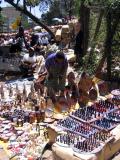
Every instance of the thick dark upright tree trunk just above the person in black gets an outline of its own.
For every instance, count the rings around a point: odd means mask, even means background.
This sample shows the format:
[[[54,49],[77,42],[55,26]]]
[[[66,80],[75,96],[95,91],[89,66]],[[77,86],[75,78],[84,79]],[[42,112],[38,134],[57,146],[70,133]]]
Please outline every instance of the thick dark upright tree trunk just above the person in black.
[[[87,52],[88,41],[89,41],[89,20],[90,20],[90,10],[84,5],[84,1],[80,6],[80,23],[82,25],[82,30],[84,34],[83,39],[83,53]]]

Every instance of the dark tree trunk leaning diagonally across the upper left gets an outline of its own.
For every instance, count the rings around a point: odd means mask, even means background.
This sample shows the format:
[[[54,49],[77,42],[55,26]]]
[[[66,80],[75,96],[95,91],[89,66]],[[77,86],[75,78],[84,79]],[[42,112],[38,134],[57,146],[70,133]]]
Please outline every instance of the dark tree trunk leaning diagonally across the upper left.
[[[51,34],[51,36],[55,39],[55,35],[54,33],[46,26],[44,25],[39,18],[37,18],[36,16],[34,16],[31,12],[29,12],[27,9],[25,9],[24,7],[18,6],[16,3],[14,3],[13,1],[10,0],[5,0],[7,3],[9,3],[10,5],[12,5],[13,7],[15,7],[18,11],[24,13],[25,15],[27,15],[29,18],[31,18],[34,22],[36,22],[38,25],[40,25],[42,28],[44,28],[47,32],[49,32]]]

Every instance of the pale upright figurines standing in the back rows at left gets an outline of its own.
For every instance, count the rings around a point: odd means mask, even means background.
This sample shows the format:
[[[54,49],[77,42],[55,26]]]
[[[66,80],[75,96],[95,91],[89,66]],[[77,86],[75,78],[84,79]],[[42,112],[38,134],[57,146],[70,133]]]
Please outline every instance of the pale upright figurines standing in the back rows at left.
[[[40,106],[40,108],[42,109],[46,108],[46,106],[48,105],[53,106],[51,98],[48,97],[47,95],[44,95],[43,97],[40,93],[40,90],[36,92],[33,83],[29,85],[29,88],[26,87],[24,83],[22,86],[22,90],[20,88],[21,87],[18,87],[18,84],[15,84],[14,87],[11,84],[8,87],[4,87],[3,85],[1,85],[0,86],[1,106],[4,106],[4,108],[8,107],[8,109],[9,108],[11,109],[12,106],[18,108],[18,106],[21,107],[22,105],[24,105],[24,108],[33,107],[33,110],[34,106],[37,105]],[[8,98],[5,97],[5,95],[7,94],[6,90],[9,92]]]

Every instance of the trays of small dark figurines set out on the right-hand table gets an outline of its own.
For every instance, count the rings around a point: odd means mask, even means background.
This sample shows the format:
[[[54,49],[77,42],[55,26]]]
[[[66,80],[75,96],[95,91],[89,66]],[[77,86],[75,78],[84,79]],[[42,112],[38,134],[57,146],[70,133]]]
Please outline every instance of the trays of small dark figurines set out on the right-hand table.
[[[59,120],[56,127],[64,132],[56,138],[56,144],[72,148],[74,153],[90,154],[98,153],[107,143],[114,141],[110,131],[120,122],[120,109],[113,99],[99,100]]]

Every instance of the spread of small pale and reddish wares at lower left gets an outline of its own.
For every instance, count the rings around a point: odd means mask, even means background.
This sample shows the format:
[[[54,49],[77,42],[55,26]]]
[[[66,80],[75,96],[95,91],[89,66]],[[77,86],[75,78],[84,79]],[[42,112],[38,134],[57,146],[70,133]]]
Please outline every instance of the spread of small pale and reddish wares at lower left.
[[[15,127],[6,120],[0,121],[0,140],[7,143],[9,156],[23,159],[38,159],[48,141],[47,131],[42,124],[24,123],[23,127]]]

